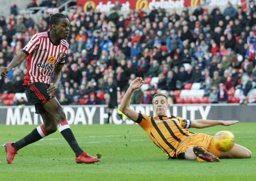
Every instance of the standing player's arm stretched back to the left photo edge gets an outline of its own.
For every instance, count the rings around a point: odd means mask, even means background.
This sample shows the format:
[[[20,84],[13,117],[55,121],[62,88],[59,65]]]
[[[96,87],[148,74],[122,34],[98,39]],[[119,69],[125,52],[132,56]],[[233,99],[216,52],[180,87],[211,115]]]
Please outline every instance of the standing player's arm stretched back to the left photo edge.
[[[0,67],[0,76],[6,77],[8,72],[10,72],[12,68],[17,67],[19,64],[21,64],[25,60],[25,58],[27,58],[26,53],[19,53],[11,60],[11,63],[7,67]]]

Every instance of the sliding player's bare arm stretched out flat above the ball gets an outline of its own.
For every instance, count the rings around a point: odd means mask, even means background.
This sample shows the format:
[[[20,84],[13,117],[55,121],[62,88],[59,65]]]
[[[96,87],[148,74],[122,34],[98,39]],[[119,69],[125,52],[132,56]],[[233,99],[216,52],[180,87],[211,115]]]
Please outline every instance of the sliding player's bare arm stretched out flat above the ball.
[[[227,121],[222,121],[222,120],[193,120],[191,121],[191,128],[207,128],[211,126],[216,126],[216,125],[224,125],[224,126],[229,126],[233,125],[236,123],[239,123],[238,120],[227,120]]]

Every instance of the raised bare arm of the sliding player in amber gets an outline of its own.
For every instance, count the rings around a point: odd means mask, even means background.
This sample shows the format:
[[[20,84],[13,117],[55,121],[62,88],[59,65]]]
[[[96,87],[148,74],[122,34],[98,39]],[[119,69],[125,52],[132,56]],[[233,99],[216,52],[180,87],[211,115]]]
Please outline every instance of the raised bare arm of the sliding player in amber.
[[[127,89],[119,107],[119,110],[133,121],[138,119],[139,114],[130,108],[131,97],[133,92],[141,88],[143,84],[144,81],[142,78],[135,78]]]

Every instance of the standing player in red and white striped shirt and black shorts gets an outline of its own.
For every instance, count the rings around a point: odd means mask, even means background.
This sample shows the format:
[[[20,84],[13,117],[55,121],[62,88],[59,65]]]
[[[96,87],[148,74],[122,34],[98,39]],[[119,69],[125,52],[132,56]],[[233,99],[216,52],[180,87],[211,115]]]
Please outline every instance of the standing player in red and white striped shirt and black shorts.
[[[18,150],[54,133],[57,129],[74,151],[77,163],[98,162],[99,159],[88,155],[79,147],[68,125],[66,115],[54,96],[68,51],[69,45],[65,39],[69,36],[70,22],[64,14],[58,13],[51,16],[50,26],[50,31],[34,34],[8,67],[0,68],[0,75],[6,77],[12,68],[17,67],[27,58],[28,74],[25,76],[25,93],[44,122],[17,142],[6,143],[7,162],[12,164]],[[54,74],[53,81],[52,74]]]

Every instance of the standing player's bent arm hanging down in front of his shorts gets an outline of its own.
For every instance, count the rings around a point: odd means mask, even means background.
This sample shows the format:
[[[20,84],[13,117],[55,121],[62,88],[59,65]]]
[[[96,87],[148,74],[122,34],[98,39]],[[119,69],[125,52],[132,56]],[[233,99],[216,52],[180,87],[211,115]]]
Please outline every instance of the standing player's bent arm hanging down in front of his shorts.
[[[50,97],[53,97],[54,93],[58,89],[60,78],[61,78],[61,70],[64,64],[57,64],[54,70],[53,83],[47,89],[47,93]]]

